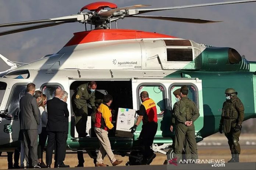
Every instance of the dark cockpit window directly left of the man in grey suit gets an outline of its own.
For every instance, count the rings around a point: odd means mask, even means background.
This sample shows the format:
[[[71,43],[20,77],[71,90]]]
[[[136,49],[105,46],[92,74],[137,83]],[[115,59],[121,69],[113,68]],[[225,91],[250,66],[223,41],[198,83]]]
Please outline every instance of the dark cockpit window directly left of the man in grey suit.
[[[26,85],[17,85],[13,90],[13,94],[11,95],[11,100],[8,106],[8,117],[18,118],[19,112],[19,99],[23,97],[26,93]]]

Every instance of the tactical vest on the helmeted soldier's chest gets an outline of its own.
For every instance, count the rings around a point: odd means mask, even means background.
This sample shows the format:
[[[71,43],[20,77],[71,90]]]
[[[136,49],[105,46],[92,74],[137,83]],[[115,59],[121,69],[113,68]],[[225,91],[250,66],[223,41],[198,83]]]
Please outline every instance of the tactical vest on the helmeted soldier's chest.
[[[238,112],[235,108],[236,99],[233,101],[226,101],[223,110],[222,115],[224,119],[237,119],[238,118]]]

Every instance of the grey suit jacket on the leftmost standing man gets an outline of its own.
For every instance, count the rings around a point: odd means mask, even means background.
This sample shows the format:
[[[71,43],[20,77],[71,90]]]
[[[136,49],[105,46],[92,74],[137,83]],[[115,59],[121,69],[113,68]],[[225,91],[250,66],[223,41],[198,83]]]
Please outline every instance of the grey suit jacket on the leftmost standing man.
[[[20,108],[20,129],[38,129],[39,125],[39,109],[36,103],[36,98],[30,93],[19,100]]]

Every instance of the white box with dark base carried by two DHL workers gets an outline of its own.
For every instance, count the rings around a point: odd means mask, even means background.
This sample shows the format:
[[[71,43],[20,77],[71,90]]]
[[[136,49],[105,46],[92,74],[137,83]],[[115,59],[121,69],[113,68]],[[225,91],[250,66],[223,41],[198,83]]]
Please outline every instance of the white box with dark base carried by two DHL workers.
[[[129,108],[118,108],[115,136],[132,138],[130,128],[135,123],[136,110]]]

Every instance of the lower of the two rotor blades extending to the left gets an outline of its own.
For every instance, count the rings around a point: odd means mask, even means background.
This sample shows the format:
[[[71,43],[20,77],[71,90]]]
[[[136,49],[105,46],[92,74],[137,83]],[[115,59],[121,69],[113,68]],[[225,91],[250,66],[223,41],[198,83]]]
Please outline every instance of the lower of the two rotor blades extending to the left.
[[[60,25],[63,23],[70,23],[70,22],[74,22],[74,21],[57,21],[57,22],[43,23],[43,24],[33,25],[33,26],[28,26],[28,27],[22,27],[22,28],[18,28],[18,29],[0,32],[0,36],[34,30],[34,29],[39,29],[39,28],[51,27],[51,26],[56,26],[56,25]]]

